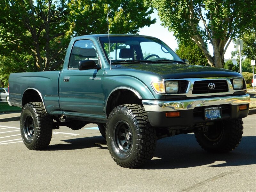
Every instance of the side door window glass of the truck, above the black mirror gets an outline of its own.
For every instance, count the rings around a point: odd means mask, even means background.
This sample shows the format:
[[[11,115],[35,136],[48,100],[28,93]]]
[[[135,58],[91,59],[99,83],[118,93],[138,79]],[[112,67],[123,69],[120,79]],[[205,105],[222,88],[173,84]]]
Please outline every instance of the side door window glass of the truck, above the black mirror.
[[[68,68],[78,68],[81,60],[94,60],[100,66],[100,58],[91,40],[78,40],[75,42],[69,58]]]

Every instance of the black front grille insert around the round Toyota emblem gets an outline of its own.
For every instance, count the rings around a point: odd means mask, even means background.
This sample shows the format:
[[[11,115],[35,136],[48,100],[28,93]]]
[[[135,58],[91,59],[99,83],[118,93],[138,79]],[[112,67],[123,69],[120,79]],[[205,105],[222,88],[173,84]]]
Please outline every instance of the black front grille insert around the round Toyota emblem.
[[[210,89],[208,85],[213,83],[214,89]],[[195,81],[192,94],[205,94],[205,93],[221,93],[228,92],[228,83],[226,80],[206,80]]]

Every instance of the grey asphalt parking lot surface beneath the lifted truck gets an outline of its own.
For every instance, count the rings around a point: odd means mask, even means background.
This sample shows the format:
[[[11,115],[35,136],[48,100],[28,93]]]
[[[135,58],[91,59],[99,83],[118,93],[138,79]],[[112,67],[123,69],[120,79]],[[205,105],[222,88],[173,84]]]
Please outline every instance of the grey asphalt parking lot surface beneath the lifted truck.
[[[256,115],[244,118],[241,144],[211,154],[194,134],[157,141],[140,169],[115,164],[96,124],[54,130],[50,146],[28,150],[19,121],[0,123],[0,191],[256,191]]]

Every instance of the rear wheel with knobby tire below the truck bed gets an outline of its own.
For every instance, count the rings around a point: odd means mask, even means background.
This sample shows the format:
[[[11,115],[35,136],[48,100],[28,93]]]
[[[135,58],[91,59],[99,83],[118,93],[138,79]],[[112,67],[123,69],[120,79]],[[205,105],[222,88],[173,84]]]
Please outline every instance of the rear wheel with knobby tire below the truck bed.
[[[53,121],[41,102],[27,103],[20,114],[20,133],[30,150],[46,148],[52,139]]]

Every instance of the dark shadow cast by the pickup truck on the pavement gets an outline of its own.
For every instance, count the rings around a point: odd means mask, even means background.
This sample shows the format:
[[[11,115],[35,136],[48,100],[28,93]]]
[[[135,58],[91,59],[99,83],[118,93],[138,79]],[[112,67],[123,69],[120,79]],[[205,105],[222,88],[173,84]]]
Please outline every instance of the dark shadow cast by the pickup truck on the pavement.
[[[61,140],[45,150],[108,149],[102,136]],[[229,153],[209,153],[196,142],[194,134],[176,135],[157,140],[153,159],[139,169],[180,169],[196,166],[226,167],[256,164],[256,137],[244,136],[239,146]],[[109,158],[111,158],[109,156]]]

